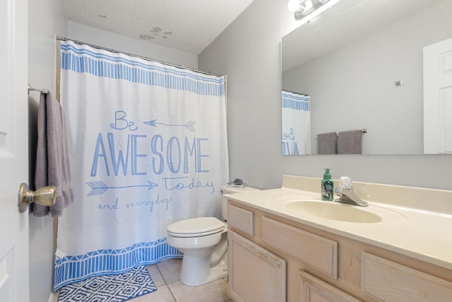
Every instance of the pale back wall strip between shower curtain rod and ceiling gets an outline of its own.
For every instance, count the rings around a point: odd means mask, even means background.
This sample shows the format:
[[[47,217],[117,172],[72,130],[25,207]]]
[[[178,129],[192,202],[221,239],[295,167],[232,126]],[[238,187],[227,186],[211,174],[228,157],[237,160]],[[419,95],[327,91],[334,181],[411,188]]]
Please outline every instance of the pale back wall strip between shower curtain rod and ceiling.
[[[182,52],[177,49],[142,42],[112,32],[106,32],[105,30],[90,28],[79,23],[68,23],[67,38],[99,45],[101,47],[112,48],[125,52],[126,54],[130,53],[175,65],[182,65],[195,69],[198,68],[198,56],[195,54],[189,54],[188,52]]]

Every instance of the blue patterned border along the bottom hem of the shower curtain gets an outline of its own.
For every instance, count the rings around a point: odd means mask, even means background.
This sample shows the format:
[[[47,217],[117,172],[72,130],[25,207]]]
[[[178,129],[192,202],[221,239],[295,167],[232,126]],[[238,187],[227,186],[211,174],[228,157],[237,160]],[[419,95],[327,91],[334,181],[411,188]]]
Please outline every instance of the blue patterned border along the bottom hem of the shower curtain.
[[[151,265],[165,259],[181,258],[182,253],[169,246],[166,238],[135,243],[117,250],[101,249],[83,255],[55,260],[55,291],[61,286],[102,274],[121,274],[136,265]]]

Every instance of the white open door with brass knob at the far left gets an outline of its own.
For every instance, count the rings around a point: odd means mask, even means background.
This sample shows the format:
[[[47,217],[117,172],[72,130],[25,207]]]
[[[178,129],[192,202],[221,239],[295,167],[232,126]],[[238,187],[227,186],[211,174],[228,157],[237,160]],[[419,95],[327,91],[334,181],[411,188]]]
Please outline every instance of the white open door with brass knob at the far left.
[[[28,212],[18,211],[28,181],[28,2],[0,1],[0,301],[29,301]]]

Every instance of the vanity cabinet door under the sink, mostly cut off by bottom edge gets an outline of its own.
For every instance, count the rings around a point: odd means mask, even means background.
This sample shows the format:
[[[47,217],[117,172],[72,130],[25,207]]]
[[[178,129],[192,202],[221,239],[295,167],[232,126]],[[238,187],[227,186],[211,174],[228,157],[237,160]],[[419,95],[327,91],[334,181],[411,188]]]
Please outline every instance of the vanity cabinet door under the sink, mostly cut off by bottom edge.
[[[354,296],[314,277],[304,270],[299,271],[302,279],[303,302],[360,302]]]

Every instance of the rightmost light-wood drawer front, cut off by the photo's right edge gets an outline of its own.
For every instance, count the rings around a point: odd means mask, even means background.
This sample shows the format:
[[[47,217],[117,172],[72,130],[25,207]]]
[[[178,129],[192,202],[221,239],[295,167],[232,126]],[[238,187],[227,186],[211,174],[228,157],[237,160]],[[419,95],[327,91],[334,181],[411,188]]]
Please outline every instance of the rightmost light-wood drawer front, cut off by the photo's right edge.
[[[452,282],[366,252],[361,289],[378,301],[452,301]]]

